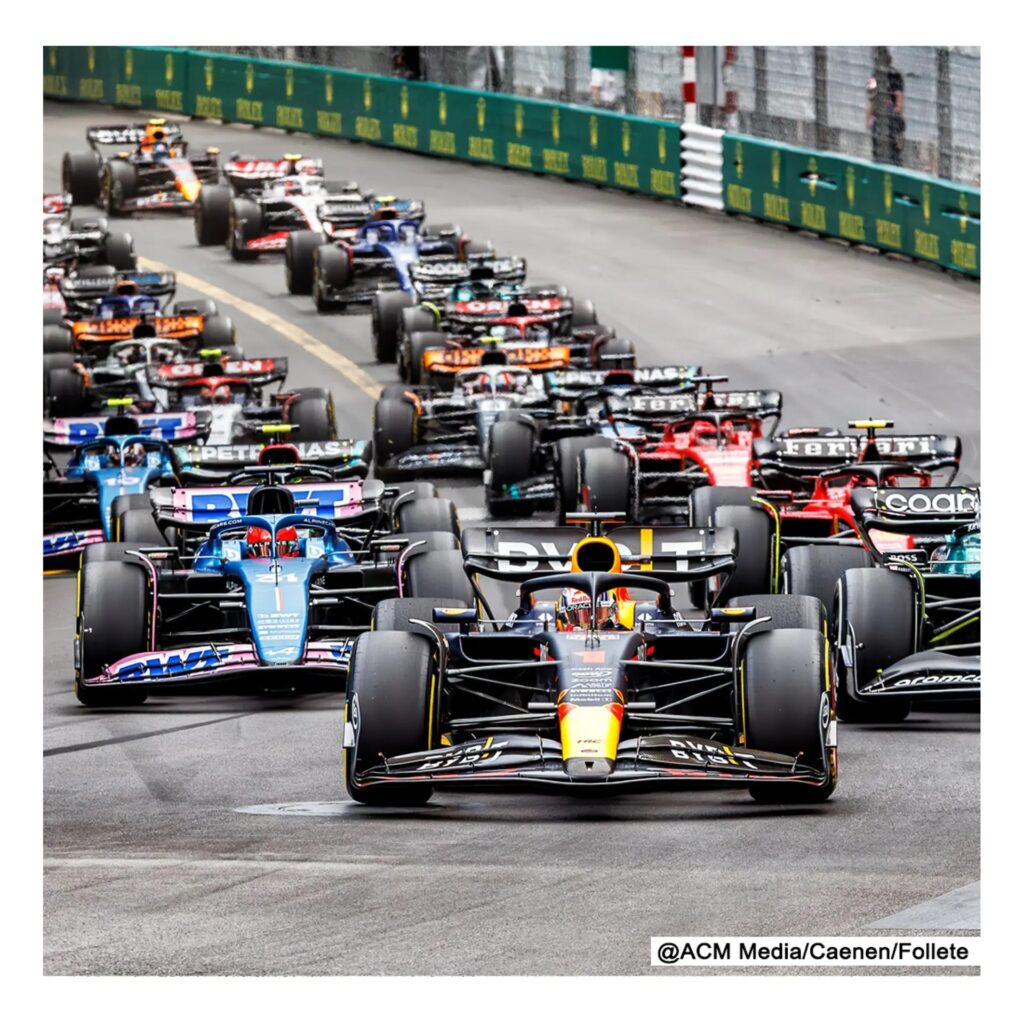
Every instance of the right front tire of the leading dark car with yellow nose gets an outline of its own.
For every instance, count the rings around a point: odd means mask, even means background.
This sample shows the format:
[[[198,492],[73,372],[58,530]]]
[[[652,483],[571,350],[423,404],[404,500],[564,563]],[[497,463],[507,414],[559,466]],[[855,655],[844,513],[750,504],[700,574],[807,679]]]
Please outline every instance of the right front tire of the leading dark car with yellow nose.
[[[751,637],[743,648],[745,744],[755,751],[801,756],[829,771],[823,743],[830,707],[825,685],[825,637],[820,630],[774,629]],[[836,788],[758,782],[751,796],[761,803],[818,804]]]

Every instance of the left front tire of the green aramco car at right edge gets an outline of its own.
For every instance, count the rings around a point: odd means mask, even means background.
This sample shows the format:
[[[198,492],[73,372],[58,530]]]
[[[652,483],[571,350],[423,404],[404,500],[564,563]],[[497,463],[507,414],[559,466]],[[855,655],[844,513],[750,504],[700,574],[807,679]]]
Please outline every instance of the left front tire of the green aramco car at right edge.
[[[851,723],[902,722],[910,701],[884,697],[861,700],[854,687],[860,680],[913,654],[918,648],[918,608],[913,583],[902,572],[874,568],[847,569],[837,587],[836,634],[845,646],[853,631],[856,665],[842,664],[837,696],[839,717]]]

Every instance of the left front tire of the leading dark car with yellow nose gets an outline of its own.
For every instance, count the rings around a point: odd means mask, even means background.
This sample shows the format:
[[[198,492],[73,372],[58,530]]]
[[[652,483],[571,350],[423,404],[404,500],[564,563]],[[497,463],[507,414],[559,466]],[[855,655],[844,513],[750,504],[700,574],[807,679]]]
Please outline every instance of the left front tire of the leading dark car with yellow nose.
[[[386,630],[364,633],[352,649],[347,716],[355,746],[345,750],[345,788],[359,804],[416,807],[433,787],[422,782],[356,785],[355,777],[381,759],[440,743],[436,658],[429,640]],[[431,721],[433,713],[435,720]]]

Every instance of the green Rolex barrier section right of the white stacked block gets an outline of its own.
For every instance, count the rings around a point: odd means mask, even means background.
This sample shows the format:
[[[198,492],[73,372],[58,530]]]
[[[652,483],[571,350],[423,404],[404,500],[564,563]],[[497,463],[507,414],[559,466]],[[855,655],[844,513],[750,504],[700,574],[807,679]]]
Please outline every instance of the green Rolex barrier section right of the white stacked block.
[[[726,133],[725,209],[981,276],[981,191],[897,167]]]

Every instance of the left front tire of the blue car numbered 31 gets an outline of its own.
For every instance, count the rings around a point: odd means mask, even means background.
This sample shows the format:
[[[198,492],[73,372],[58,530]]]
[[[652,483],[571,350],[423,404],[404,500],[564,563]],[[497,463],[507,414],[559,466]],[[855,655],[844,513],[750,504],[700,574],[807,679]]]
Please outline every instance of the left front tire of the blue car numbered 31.
[[[139,705],[144,686],[124,684],[90,688],[82,680],[150,646],[150,594],[144,568],[124,560],[83,562],[78,635],[81,656],[75,696],[88,707]]]

